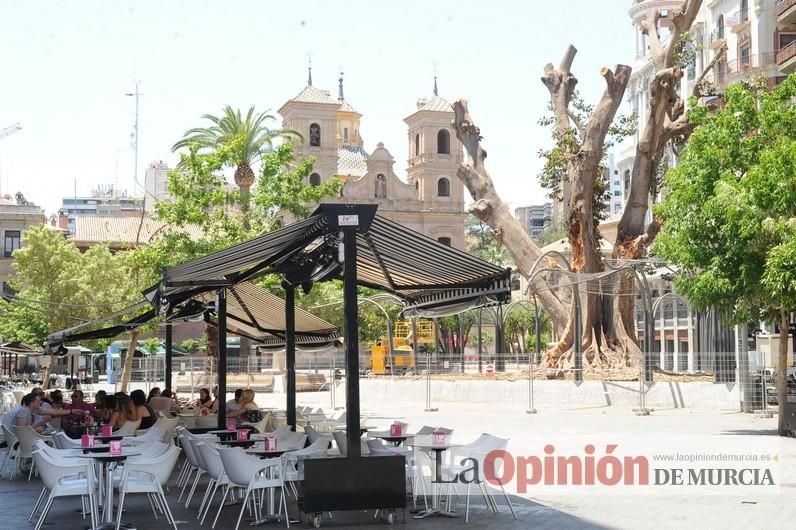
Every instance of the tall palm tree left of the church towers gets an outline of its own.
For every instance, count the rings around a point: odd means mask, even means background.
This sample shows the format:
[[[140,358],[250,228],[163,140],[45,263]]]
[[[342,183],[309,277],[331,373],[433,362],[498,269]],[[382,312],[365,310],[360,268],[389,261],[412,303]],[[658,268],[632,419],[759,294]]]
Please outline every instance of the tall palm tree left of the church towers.
[[[172,152],[197,146],[199,149],[218,149],[229,146],[233,150],[235,164],[235,184],[240,188],[241,209],[244,214],[244,225],[248,229],[249,189],[254,184],[254,170],[252,165],[258,162],[263,153],[269,151],[272,142],[277,138],[299,138],[300,133],[292,129],[269,129],[265,123],[276,119],[268,112],[255,112],[254,105],[249,108],[246,116],[241,115],[240,109],[233,109],[227,105],[221,116],[205,114],[202,119],[213,123],[210,127],[196,127],[189,129],[182,140],[174,144]]]

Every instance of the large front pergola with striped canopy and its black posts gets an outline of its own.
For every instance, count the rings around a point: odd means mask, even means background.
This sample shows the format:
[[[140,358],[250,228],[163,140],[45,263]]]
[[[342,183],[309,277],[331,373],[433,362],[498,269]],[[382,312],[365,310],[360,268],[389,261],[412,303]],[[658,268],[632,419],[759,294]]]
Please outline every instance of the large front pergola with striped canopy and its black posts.
[[[360,456],[357,286],[380,289],[412,311],[462,304],[495,304],[510,298],[510,269],[448,247],[376,215],[376,205],[322,204],[306,220],[205,257],[171,267],[146,294],[160,312],[179,309],[197,296],[216,297],[219,373],[226,372],[228,309],[240,282],[265,274],[282,276],[285,290],[287,422],[296,418],[295,290],[343,280],[346,409],[349,457]],[[219,394],[226,381],[218,382]],[[225,411],[219,411],[219,425]]]

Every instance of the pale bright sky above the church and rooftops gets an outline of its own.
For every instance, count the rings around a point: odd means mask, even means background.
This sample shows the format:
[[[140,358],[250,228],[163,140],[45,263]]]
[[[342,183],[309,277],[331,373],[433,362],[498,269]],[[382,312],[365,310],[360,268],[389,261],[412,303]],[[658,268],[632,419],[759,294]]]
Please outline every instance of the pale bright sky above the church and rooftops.
[[[176,161],[171,145],[226,104],[274,112],[306,83],[346,99],[363,116],[372,151],[384,142],[405,176],[403,118],[431,95],[465,97],[489,151],[488,168],[512,206],[544,200],[537,125],[547,91],[544,65],[569,43],[588,101],[598,72],[633,58],[623,0],[565,2],[271,2],[73,0],[0,2],[2,193],[22,191],[52,213],[61,198],[99,184],[133,189],[132,92],[140,80],[139,180],[153,160]],[[274,123],[278,125],[278,123]]]

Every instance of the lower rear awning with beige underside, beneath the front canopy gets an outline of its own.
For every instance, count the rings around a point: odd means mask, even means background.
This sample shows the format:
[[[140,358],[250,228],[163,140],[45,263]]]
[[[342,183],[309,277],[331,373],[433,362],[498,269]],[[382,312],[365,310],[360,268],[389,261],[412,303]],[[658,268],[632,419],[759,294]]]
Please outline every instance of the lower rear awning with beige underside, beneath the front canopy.
[[[211,302],[213,302],[213,297],[207,293],[198,300],[189,300],[175,308],[169,321],[204,318],[206,314],[212,312]],[[129,314],[140,307],[140,304],[136,304],[114,314],[117,316],[125,312]],[[57,331],[47,337],[47,351],[55,352],[65,342],[116,337],[146,324],[157,316],[157,311],[150,309],[120,324],[99,329],[90,328],[100,322],[108,322],[107,318]],[[284,343],[285,301],[254,284],[244,282],[230,289],[227,317],[227,331],[230,333],[258,342],[268,341],[269,344],[274,344],[281,341]],[[308,311],[296,309],[296,342],[298,344],[325,344],[338,338],[339,331],[332,324]]]

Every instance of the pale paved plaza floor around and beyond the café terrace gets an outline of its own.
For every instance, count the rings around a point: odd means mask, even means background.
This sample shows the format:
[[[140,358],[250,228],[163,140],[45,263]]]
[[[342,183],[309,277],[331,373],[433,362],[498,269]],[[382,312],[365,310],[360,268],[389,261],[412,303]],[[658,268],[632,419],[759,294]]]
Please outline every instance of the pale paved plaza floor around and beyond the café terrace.
[[[260,395],[261,405],[280,405],[282,396]],[[329,406],[328,393],[300,394],[299,404]],[[643,433],[665,439],[672,436],[713,436],[717,444],[724,439],[759,440],[774,436],[776,418],[759,419],[749,414],[731,412],[691,411],[687,409],[658,410],[647,417],[639,417],[629,409],[619,407],[581,410],[540,410],[538,414],[524,413],[523,404],[489,406],[484,404],[435,404],[436,412],[425,412],[422,402],[416,403],[363,403],[362,412],[368,415],[371,425],[389,425],[400,419],[412,427],[420,425],[446,426],[455,430],[455,439],[468,442],[480,433],[488,432],[511,438],[511,447],[522,447],[525,440],[539,434],[569,434],[594,436],[632,436]],[[515,449],[516,450],[516,449]],[[783,482],[776,495],[562,495],[539,494],[515,496],[517,511],[514,520],[507,507],[501,503],[497,515],[488,512],[480,500],[473,497],[469,524],[464,518],[415,520],[407,514],[404,528],[554,528],[554,529],[637,529],[637,528],[793,528],[796,525],[796,440],[781,441],[780,464]],[[23,478],[0,480],[0,528],[32,528],[27,522],[30,506],[40,485],[35,480]],[[200,485],[203,492],[203,485]],[[172,488],[170,504],[180,529],[209,528],[198,524],[194,501],[186,511],[176,502]],[[131,498],[126,504],[125,520],[137,528],[166,528],[163,520],[154,521],[144,498]],[[239,507],[225,509],[216,528],[234,528]],[[291,516],[298,517],[295,503]],[[463,511],[463,505],[459,506]],[[79,514],[71,501],[57,501],[44,528],[64,530],[82,529]],[[302,523],[291,527],[304,527]],[[334,518],[324,519],[323,528],[384,528],[386,525],[373,519],[373,512],[340,512]],[[248,527],[241,525],[241,528]],[[266,527],[284,528],[284,523],[271,523]]]

